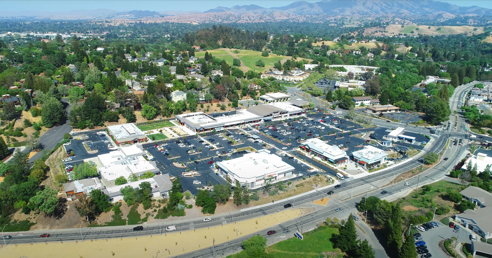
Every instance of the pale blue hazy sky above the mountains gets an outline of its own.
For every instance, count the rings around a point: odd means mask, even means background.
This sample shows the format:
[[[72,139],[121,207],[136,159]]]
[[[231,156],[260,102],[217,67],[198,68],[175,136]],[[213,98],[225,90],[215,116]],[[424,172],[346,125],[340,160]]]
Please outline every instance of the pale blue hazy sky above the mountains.
[[[22,11],[60,12],[70,10],[112,9],[116,11],[150,10],[150,11],[206,11],[217,6],[256,4],[262,7],[285,6],[296,0],[0,0],[3,15],[9,12],[20,15]],[[316,2],[318,0],[306,0]],[[477,5],[492,9],[488,0],[442,0],[460,6]]]

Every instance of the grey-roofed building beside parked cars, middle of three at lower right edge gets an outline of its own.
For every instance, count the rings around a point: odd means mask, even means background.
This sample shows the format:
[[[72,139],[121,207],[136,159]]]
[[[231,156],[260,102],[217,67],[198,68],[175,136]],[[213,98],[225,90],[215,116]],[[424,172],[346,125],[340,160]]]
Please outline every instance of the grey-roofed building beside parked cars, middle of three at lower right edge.
[[[492,238],[492,224],[490,218],[492,207],[481,209],[467,209],[463,213],[456,214],[455,220],[467,229],[471,229],[485,239]],[[475,242],[475,241],[472,241]]]

